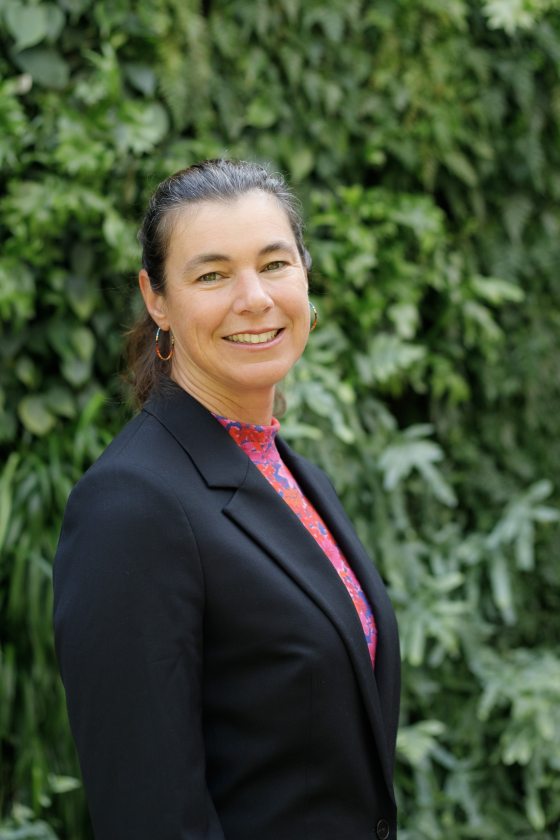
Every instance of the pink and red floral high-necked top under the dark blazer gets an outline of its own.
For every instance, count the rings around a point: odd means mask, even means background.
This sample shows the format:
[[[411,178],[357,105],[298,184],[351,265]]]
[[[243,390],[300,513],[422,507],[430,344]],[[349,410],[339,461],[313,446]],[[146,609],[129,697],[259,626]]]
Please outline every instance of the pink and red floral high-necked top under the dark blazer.
[[[275,441],[280,423],[275,417],[272,418],[270,426],[241,423],[216,414],[214,417],[249,456],[279,496],[291,507],[333,564],[352,598],[366,637],[371,663],[375,665],[377,628],[370,603],[334,537],[313,505],[303,495],[295,478],[280,458]]]

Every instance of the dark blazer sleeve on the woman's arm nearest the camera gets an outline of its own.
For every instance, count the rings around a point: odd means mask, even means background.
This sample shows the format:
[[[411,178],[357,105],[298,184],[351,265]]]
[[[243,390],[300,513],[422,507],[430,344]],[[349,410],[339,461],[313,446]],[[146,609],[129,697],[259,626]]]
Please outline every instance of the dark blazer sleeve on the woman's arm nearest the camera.
[[[205,783],[202,569],[161,477],[86,474],[67,505],[54,593],[96,840],[223,840]]]

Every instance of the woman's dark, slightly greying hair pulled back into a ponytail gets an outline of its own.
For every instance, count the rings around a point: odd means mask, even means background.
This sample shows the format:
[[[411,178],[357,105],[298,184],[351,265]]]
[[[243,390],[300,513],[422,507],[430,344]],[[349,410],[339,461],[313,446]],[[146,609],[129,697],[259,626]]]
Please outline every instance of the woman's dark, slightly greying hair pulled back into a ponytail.
[[[244,160],[205,160],[170,175],[150,198],[138,240],[142,246],[142,267],[155,292],[165,291],[165,262],[175,211],[200,201],[231,201],[252,190],[277,198],[290,223],[303,265],[310,270],[311,257],[303,241],[299,202],[283,176]],[[134,400],[140,406],[152,391],[170,381],[171,363],[159,360],[154,352],[156,329],[150,314],[144,312],[127,334],[129,379]],[[166,355],[166,346],[162,350]]]

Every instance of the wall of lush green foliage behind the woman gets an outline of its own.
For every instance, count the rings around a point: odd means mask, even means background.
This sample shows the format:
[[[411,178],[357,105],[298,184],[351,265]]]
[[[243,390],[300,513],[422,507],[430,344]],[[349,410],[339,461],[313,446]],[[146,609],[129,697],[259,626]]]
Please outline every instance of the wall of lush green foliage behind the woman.
[[[305,204],[283,425],[398,611],[400,836],[560,836],[559,6],[2,0],[2,840],[91,837],[51,562],[129,413],[142,208],[223,154]]]

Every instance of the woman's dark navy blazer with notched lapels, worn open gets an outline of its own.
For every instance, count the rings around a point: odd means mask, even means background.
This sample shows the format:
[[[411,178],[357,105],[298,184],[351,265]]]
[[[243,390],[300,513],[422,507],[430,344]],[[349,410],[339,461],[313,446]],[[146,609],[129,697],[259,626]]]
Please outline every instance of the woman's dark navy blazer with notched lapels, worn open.
[[[375,672],[313,537],[173,387],[78,482],[57,657],[97,840],[396,837],[397,626],[325,474],[280,454],[373,607]]]

